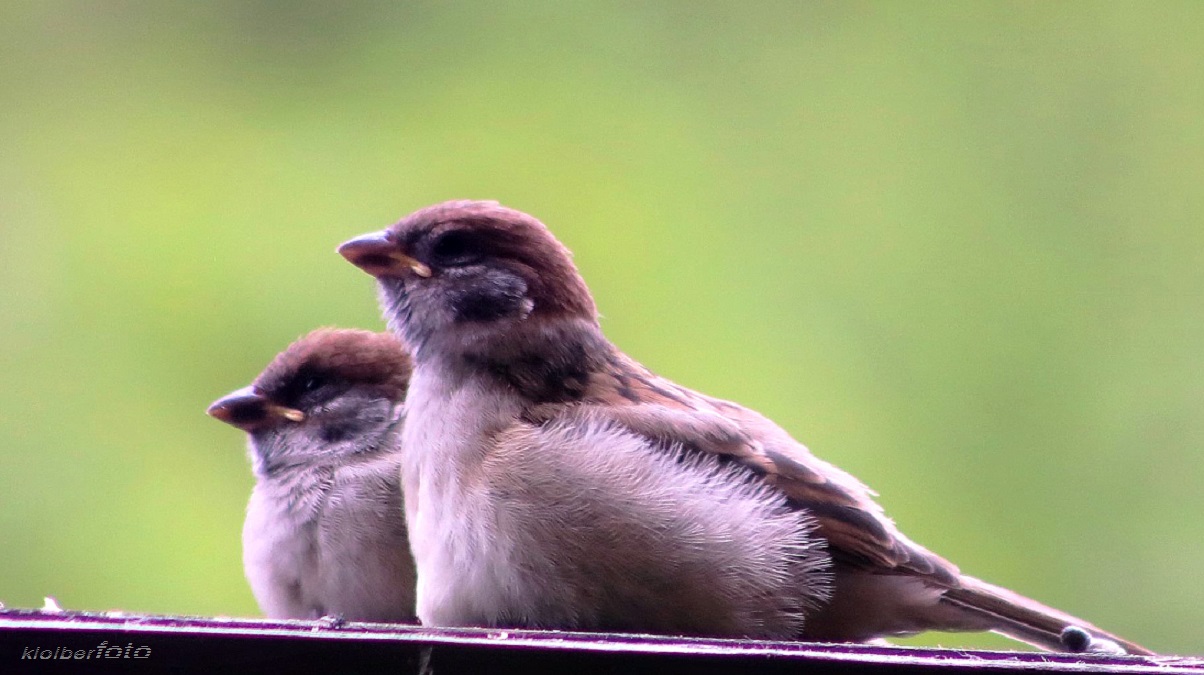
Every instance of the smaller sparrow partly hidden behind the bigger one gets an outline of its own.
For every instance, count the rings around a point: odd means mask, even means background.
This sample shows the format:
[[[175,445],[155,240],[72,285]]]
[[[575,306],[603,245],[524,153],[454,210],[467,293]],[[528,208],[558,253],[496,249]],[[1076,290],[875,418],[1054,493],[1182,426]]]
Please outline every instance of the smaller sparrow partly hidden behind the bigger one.
[[[319,328],[209,405],[248,437],[243,567],[267,617],[414,620],[400,484],[409,374],[394,336]]]

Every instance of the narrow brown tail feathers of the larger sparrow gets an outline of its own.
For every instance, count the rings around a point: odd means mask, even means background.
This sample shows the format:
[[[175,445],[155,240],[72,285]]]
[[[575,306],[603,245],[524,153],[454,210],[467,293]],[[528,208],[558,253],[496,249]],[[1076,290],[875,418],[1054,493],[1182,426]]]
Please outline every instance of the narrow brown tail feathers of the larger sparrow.
[[[1114,643],[1132,655],[1152,651],[1091,623],[973,576],[945,591],[943,603],[969,612],[996,633],[1050,651],[1108,651]]]

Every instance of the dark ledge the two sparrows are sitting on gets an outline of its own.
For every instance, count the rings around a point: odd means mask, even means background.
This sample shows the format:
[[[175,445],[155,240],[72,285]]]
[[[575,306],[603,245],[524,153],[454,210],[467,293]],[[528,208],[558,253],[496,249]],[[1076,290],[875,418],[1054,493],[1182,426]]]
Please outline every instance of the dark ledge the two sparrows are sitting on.
[[[0,673],[1158,673],[1204,659],[0,610]]]

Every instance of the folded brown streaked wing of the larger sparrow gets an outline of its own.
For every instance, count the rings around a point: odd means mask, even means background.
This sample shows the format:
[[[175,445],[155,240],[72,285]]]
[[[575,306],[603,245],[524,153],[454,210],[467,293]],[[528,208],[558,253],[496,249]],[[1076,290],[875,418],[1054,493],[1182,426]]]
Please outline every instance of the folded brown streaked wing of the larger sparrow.
[[[536,405],[530,416],[604,419],[666,449],[730,457],[813,514],[834,559],[958,586],[957,568],[904,537],[856,478],[811,455],[763,415],[677,385],[620,353],[591,373],[579,401]]]

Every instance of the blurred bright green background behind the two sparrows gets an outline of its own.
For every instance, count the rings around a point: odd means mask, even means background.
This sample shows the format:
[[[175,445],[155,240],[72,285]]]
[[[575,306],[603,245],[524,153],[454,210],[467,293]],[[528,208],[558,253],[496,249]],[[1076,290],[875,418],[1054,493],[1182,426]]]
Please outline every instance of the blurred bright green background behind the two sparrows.
[[[1204,652],[1204,5],[45,1],[0,43],[7,605],[256,615],[206,405],[382,326],[336,244],[477,197],[963,570]]]

